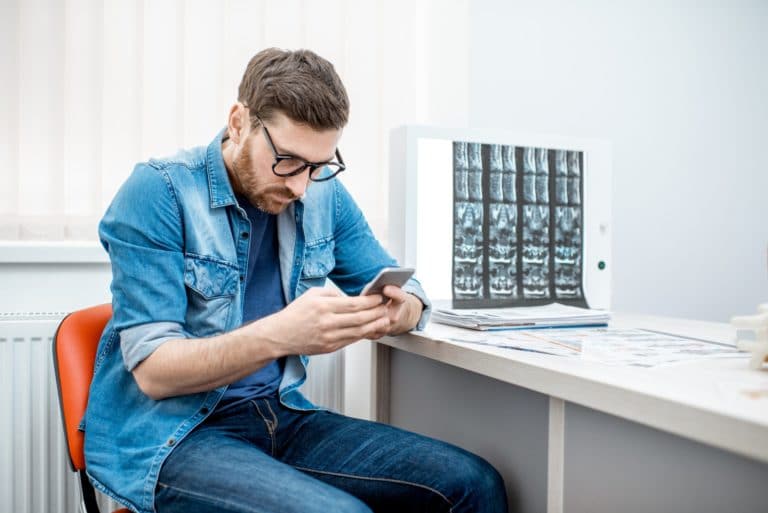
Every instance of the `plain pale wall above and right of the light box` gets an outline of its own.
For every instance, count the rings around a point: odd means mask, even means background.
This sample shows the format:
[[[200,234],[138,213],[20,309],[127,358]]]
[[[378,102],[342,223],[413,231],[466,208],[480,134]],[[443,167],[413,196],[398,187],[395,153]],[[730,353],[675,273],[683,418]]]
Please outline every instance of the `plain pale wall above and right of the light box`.
[[[613,143],[614,310],[726,321],[768,300],[768,3],[470,13],[471,125]]]

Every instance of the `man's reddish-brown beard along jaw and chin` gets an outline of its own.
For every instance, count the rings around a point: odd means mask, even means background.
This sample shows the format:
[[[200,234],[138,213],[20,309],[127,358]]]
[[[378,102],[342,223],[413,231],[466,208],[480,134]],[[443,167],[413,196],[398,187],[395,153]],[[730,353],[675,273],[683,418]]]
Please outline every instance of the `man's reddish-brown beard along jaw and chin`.
[[[259,180],[250,144],[245,144],[240,155],[232,161],[232,174],[233,182],[240,189],[236,192],[245,196],[251,205],[262,212],[279,214],[298,199],[298,196],[281,183],[263,183]]]

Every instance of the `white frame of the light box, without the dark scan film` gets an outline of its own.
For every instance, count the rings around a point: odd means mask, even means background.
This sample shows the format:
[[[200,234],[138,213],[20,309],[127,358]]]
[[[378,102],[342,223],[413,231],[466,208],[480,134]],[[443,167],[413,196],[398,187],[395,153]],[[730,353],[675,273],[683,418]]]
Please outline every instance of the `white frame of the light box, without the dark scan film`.
[[[591,308],[611,302],[611,178],[608,142],[503,130],[403,126],[390,134],[389,247],[435,300],[452,298],[453,142],[583,152],[584,296]],[[435,151],[439,148],[440,151]]]

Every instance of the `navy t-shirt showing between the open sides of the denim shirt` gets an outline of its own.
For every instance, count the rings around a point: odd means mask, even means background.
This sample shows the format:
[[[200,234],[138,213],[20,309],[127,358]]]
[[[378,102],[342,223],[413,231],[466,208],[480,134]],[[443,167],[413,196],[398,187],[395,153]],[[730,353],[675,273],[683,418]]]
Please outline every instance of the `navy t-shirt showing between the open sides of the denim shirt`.
[[[237,201],[251,222],[251,247],[243,300],[243,324],[246,324],[282,310],[285,297],[280,283],[277,216],[259,210],[240,195],[237,195]],[[283,377],[283,365],[284,359],[280,358],[232,383],[220,406],[274,395]]]

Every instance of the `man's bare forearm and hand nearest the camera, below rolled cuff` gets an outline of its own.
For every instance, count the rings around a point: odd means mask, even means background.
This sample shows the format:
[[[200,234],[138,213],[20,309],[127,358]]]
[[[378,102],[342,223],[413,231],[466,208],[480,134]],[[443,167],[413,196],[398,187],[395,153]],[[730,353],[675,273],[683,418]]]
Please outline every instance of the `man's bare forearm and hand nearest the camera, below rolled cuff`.
[[[390,330],[381,295],[309,289],[280,312],[208,338],[161,344],[135,369],[141,390],[159,400],[233,383],[291,354],[331,353]]]

